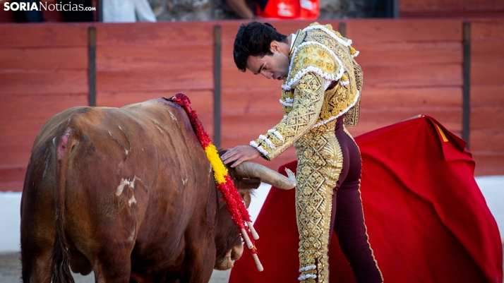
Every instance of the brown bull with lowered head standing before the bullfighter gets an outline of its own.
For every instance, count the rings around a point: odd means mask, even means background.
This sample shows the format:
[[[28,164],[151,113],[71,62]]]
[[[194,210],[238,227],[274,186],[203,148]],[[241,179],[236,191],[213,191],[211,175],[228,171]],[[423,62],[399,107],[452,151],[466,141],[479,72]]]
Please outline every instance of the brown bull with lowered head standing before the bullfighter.
[[[260,179],[292,187],[251,162],[230,173],[247,205]],[[68,265],[96,282],[208,282],[242,251],[176,104],[74,107],[42,126],[21,200],[23,282],[73,282]]]

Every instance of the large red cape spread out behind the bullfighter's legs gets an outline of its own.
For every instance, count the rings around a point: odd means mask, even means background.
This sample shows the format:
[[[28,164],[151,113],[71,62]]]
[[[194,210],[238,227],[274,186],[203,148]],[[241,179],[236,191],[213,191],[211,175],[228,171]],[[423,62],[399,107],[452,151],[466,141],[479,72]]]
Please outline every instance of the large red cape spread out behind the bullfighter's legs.
[[[355,140],[362,155],[369,242],[385,282],[503,282],[500,234],[474,181],[474,161],[464,140],[429,116]],[[295,171],[296,164],[279,171]],[[294,201],[294,190],[271,188],[254,224],[264,271],[258,272],[244,251],[229,282],[298,282]],[[336,234],[329,259],[330,282],[355,282]]]

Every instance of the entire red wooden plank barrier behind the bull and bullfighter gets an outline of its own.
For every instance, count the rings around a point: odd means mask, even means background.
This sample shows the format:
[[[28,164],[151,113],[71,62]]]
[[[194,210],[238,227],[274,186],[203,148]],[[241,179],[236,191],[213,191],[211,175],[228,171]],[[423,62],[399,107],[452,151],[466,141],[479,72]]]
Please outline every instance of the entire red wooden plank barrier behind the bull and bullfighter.
[[[331,23],[337,30],[340,22]],[[364,76],[354,136],[416,114],[462,130],[462,20],[347,20]],[[213,26],[222,25],[222,147],[248,144],[282,118],[281,82],[241,73],[238,21],[96,24],[97,105],[183,92],[212,133]],[[308,22],[273,23],[285,34]],[[440,28],[442,27],[442,28]],[[472,151],[476,174],[504,174],[504,20],[472,32]],[[88,24],[0,25],[0,191],[20,191],[30,148],[50,116],[88,104]],[[272,162],[295,158],[290,148]]]

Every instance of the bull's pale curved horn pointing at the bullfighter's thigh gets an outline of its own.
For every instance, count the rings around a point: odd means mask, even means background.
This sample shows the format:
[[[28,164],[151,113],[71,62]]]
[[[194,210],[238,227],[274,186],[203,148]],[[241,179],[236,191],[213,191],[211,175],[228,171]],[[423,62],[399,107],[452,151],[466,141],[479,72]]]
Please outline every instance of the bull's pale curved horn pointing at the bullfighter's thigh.
[[[235,168],[236,172],[241,177],[260,178],[261,181],[269,183],[271,186],[282,188],[283,190],[289,190],[296,186],[296,177],[294,176],[294,173],[287,168],[285,171],[287,172],[289,178],[261,164],[249,161],[241,162]]]

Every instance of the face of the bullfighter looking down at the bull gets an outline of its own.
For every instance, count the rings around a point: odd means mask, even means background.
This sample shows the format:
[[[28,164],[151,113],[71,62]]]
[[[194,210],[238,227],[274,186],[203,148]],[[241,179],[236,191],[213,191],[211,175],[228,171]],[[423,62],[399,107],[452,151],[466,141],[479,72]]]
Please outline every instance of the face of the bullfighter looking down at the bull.
[[[289,73],[289,57],[282,52],[278,42],[271,42],[272,55],[248,56],[247,69],[254,75],[261,74],[265,78],[283,80]]]

